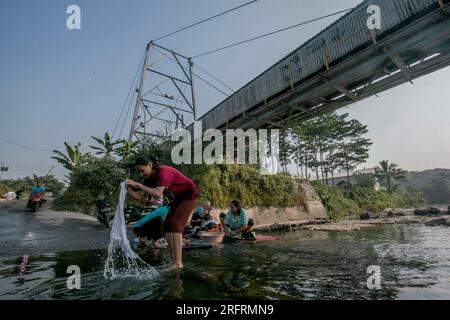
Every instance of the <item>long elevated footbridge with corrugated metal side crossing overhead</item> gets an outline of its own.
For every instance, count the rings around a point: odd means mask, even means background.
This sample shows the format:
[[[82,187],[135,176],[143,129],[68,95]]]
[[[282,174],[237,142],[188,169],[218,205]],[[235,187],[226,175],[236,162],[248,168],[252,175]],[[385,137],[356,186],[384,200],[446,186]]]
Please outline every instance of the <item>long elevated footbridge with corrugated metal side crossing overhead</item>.
[[[203,130],[289,128],[444,68],[449,2],[363,1],[197,120]],[[367,24],[373,5],[381,29]]]

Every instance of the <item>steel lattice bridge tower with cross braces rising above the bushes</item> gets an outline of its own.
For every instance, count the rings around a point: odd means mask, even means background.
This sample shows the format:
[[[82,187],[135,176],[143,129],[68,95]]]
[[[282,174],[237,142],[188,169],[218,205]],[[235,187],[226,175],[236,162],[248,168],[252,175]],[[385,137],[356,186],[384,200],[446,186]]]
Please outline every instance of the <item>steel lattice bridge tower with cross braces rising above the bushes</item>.
[[[192,59],[149,42],[128,140],[163,142],[197,119]]]

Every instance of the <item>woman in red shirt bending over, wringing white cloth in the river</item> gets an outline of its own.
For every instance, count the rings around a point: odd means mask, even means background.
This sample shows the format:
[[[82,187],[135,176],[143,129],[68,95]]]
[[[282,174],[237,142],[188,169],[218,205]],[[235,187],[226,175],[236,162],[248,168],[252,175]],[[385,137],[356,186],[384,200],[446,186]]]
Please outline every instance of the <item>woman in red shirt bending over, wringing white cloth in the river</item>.
[[[169,212],[163,222],[163,232],[169,246],[172,264],[170,270],[183,268],[183,230],[198,197],[195,183],[175,168],[159,165],[155,157],[141,156],[135,162],[136,171],[144,178],[144,183],[126,180],[128,193],[136,200],[145,196],[160,197],[164,190],[173,194]]]

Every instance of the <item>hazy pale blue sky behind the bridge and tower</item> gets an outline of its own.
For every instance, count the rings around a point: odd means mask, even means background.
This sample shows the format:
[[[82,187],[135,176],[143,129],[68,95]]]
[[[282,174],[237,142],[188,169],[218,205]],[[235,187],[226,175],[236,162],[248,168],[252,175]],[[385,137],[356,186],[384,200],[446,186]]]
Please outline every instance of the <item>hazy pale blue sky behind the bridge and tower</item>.
[[[146,43],[245,1],[2,0],[0,2],[0,138],[62,149],[112,132]],[[358,0],[260,0],[163,39],[187,56],[357,5]],[[81,30],[66,28],[66,8],[81,7]],[[337,17],[315,22],[195,62],[238,89]],[[200,72],[199,72],[200,74]],[[409,170],[450,168],[449,68],[358,102],[343,111],[369,125],[367,166],[389,159]],[[199,113],[223,99],[198,84]],[[122,136],[129,130],[125,124]],[[44,174],[49,152],[0,141],[3,178]],[[58,176],[63,170],[55,169]]]

